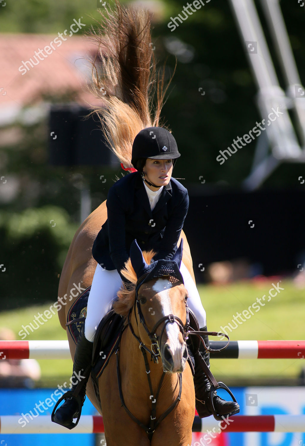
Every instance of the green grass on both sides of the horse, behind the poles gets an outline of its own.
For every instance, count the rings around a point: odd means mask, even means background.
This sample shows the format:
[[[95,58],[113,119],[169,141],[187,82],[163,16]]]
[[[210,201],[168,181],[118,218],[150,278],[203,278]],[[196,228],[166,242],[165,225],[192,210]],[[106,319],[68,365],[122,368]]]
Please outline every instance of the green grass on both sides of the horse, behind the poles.
[[[277,281],[273,280],[275,284]],[[238,282],[231,285],[199,285],[199,293],[207,312],[207,327],[210,331],[220,331],[221,326],[228,325],[237,312],[247,310],[256,297],[264,294],[272,287],[272,279],[259,283]],[[290,280],[283,280],[281,290],[276,297],[260,307],[246,322],[239,325],[232,333],[231,340],[238,339],[305,339],[304,291],[297,289]],[[274,292],[274,291],[273,291]],[[191,297],[190,297],[191,299]],[[264,302],[263,302],[264,303]],[[34,315],[43,313],[52,304],[33,306],[20,310],[12,310],[0,314],[0,326],[9,326],[16,333],[21,325],[33,321]],[[234,325],[233,325],[234,326]],[[40,328],[30,333],[26,340],[34,339],[67,339],[65,330],[59,324],[57,315],[45,322]],[[210,338],[216,339],[216,338]],[[64,382],[72,372],[72,360],[39,360],[42,371],[42,382],[45,385]],[[286,379],[297,378],[304,367],[304,362],[297,359],[212,359],[211,371],[216,379],[239,380]]]

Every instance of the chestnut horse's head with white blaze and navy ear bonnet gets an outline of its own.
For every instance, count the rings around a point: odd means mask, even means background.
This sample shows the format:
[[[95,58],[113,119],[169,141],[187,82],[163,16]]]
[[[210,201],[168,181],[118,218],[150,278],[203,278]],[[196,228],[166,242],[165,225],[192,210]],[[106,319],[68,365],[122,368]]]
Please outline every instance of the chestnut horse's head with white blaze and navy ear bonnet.
[[[151,344],[152,358],[161,356],[167,372],[183,372],[188,352],[187,290],[180,273],[183,241],[172,260],[147,264],[136,240],[130,247],[130,261],[137,276],[134,311],[137,307],[138,331],[142,344]]]

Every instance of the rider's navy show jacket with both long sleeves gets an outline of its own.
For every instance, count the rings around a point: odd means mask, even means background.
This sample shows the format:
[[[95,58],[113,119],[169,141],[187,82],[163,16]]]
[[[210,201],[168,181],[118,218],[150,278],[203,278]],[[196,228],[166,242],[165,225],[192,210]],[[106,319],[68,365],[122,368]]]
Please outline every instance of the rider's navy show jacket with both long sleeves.
[[[107,220],[92,247],[94,259],[104,269],[117,269],[120,274],[129,258],[130,245],[136,239],[142,251],[157,252],[154,260],[171,260],[188,205],[187,189],[171,178],[151,211],[141,174],[129,173],[110,187]],[[122,280],[126,281],[124,277]]]

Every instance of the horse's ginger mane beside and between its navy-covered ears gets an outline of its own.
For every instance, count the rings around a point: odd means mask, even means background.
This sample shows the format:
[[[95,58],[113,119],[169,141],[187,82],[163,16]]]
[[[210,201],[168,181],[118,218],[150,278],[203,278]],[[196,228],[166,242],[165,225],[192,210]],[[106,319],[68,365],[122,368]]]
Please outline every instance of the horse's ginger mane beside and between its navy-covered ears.
[[[143,251],[142,254],[147,264],[150,264],[150,260],[153,258],[153,256],[155,256],[155,252],[152,250]],[[125,268],[121,270],[121,273],[132,283],[132,289],[123,283],[122,287],[118,291],[118,298],[116,301],[114,301],[113,307],[117,314],[121,314],[122,316],[126,317],[130,308],[132,308],[134,305],[135,285],[137,283],[137,275],[134,272],[130,258],[125,263]]]

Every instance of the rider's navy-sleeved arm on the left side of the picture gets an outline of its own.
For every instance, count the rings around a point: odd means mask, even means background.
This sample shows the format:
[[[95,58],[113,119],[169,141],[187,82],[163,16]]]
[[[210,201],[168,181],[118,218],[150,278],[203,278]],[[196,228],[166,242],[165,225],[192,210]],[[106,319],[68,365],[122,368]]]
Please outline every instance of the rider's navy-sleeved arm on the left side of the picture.
[[[123,200],[122,200],[123,201]],[[110,257],[117,269],[122,281],[129,283],[125,277],[121,275],[121,269],[124,268],[126,260],[129,255],[126,251],[125,240],[125,210],[123,202],[111,188],[108,193],[106,206],[107,206],[107,221],[108,221],[108,233],[109,233],[109,249]]]

